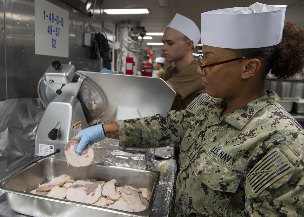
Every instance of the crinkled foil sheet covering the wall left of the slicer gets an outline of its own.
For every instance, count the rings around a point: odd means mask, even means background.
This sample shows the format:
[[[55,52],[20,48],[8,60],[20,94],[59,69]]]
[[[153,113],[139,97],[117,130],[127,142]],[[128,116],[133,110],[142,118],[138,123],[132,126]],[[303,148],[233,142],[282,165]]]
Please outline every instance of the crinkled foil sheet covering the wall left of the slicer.
[[[38,98],[0,102],[0,179],[35,159],[35,135],[44,108]]]

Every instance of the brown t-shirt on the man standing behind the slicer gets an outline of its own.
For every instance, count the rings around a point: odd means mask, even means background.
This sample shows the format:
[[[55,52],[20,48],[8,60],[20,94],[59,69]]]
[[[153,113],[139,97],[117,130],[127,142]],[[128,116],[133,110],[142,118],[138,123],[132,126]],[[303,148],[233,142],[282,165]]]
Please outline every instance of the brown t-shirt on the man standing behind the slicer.
[[[171,110],[184,110],[195,97],[206,93],[206,88],[201,80],[202,75],[196,72],[197,67],[197,60],[193,59],[180,72],[176,67],[172,67],[166,72],[164,81],[169,81],[180,93],[180,96],[174,98]]]

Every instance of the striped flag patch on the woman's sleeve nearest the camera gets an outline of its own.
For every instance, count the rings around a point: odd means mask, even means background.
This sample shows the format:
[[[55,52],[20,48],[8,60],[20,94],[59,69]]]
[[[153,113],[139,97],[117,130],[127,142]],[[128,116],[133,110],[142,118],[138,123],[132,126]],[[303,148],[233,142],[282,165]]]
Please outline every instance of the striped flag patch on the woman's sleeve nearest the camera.
[[[276,148],[250,170],[246,176],[245,185],[247,188],[250,186],[250,195],[257,196],[264,190],[274,188],[275,186],[271,186],[273,184],[285,183],[294,169],[295,167]]]

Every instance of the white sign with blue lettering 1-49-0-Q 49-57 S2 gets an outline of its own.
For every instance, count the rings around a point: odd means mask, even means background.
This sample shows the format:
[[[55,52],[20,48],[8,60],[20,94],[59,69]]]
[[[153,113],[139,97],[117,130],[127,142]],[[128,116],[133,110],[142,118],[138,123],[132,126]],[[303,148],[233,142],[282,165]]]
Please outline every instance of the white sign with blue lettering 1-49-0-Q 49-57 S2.
[[[35,54],[69,57],[69,12],[35,0]]]

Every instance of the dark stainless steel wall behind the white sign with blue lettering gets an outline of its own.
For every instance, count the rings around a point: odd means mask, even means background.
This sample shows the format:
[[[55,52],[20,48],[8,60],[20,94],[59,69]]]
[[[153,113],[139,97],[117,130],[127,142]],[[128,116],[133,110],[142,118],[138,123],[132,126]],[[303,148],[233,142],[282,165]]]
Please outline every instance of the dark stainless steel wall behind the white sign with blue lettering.
[[[11,98],[38,97],[37,84],[47,67],[54,61],[73,64],[78,69],[100,71],[100,61],[91,59],[91,47],[83,45],[83,36],[88,30],[91,18],[81,12],[69,11],[69,57],[52,57],[35,54],[35,1],[0,0],[0,25],[4,33],[0,36],[0,49],[6,60],[0,58],[0,101]],[[39,0],[36,0],[39,1]],[[64,9],[64,3],[58,0],[49,2]],[[101,2],[97,1],[92,26],[101,31]],[[5,44],[4,42],[5,39]],[[4,62],[3,62],[4,61]],[[6,68],[3,68],[6,66]],[[7,85],[5,85],[7,84]],[[7,91],[6,91],[7,89]]]

